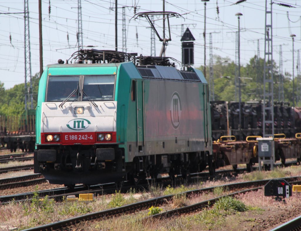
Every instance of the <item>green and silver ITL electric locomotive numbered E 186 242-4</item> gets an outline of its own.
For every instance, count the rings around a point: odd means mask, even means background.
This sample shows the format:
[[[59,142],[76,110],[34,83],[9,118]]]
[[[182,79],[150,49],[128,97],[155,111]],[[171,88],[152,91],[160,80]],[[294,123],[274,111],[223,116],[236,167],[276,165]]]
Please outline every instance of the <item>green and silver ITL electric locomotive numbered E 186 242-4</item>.
[[[212,168],[209,90],[171,58],[80,50],[39,83],[34,172],[97,184]]]

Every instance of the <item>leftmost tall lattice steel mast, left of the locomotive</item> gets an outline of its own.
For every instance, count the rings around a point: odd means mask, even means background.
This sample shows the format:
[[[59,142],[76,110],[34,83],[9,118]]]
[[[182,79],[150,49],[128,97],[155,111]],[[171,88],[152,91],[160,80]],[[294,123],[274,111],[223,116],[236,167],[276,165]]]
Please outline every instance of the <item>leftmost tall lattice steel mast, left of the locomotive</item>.
[[[28,94],[30,95],[30,108],[33,109],[33,85],[31,80],[31,53],[29,34],[29,10],[28,0],[24,0],[24,67],[25,67],[25,110],[27,110]],[[30,79],[30,87],[27,89],[27,78]]]

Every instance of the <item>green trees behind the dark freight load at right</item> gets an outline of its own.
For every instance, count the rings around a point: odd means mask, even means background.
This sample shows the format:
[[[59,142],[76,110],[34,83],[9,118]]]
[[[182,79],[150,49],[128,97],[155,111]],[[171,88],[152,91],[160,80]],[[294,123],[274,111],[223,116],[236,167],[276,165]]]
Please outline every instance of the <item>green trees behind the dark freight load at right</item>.
[[[213,82],[215,100],[235,101],[235,73],[238,75],[238,66],[228,57],[213,56]],[[250,59],[246,65],[240,65],[240,89],[241,101],[262,99],[263,94],[263,66],[264,59],[256,56]],[[203,66],[198,69],[203,71]],[[236,72],[235,72],[236,69]],[[280,76],[276,62],[273,61],[274,99],[278,100],[279,83],[283,80],[284,101],[292,104],[293,83],[290,73]],[[210,69],[206,68],[207,82],[209,82]],[[225,78],[226,77],[226,78]],[[300,82],[300,76],[295,76],[295,84]],[[238,82],[237,82],[238,84]],[[209,86],[211,89],[211,86]],[[280,90],[282,94],[282,91]],[[212,98],[210,98],[212,100]],[[238,101],[238,89],[237,89]],[[298,103],[301,105],[301,102]],[[296,105],[298,105],[296,104]]]

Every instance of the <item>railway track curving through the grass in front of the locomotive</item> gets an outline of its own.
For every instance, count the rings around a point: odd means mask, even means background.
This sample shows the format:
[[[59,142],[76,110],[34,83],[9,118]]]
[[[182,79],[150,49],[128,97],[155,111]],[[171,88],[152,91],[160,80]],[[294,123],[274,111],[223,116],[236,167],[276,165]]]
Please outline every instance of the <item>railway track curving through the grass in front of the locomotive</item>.
[[[300,183],[300,176],[299,177],[290,177],[290,178],[284,178],[287,181],[290,181],[290,183],[298,184]],[[242,182],[242,183],[235,183],[235,184],[227,184],[222,186],[216,186],[216,187],[209,187],[209,188],[203,188],[199,190],[190,190],[183,192],[182,194],[185,194],[186,196],[190,196],[193,194],[199,194],[204,192],[211,192],[217,187],[227,187],[228,190],[237,190],[233,193],[229,193],[224,196],[216,197],[213,199],[209,199],[200,203],[196,203],[194,205],[185,206],[182,208],[176,208],[172,209],[160,214],[156,214],[150,217],[147,217],[145,219],[156,219],[160,217],[170,217],[174,214],[183,214],[183,213],[190,213],[200,210],[201,208],[208,206],[208,203],[211,205],[214,204],[218,199],[225,197],[225,196],[235,196],[240,193],[246,193],[249,191],[254,191],[262,188],[269,180],[261,180],[261,181],[249,181],[249,182]],[[247,188],[247,189],[246,189]],[[94,212],[90,214],[85,214],[82,216],[72,217],[67,220],[61,220],[58,222],[54,222],[51,224],[43,225],[43,226],[37,226],[31,229],[26,230],[53,230],[53,229],[70,229],[73,225],[80,223],[81,221],[87,221],[87,220],[96,220],[103,217],[110,217],[110,216],[116,216],[120,214],[127,214],[127,213],[133,213],[137,210],[143,210],[147,209],[151,206],[160,206],[165,204],[166,202],[170,201],[172,197],[175,195],[168,195],[168,196],[161,196],[154,199],[149,199],[142,202],[133,203],[130,205],[121,206],[118,208],[112,208],[104,211]]]

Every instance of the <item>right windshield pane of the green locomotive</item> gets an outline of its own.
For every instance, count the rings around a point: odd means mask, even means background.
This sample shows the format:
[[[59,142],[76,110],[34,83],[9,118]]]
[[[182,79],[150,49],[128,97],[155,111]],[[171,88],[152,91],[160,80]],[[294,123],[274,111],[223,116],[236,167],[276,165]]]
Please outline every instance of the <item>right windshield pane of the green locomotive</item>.
[[[82,100],[112,100],[115,75],[85,75]]]

